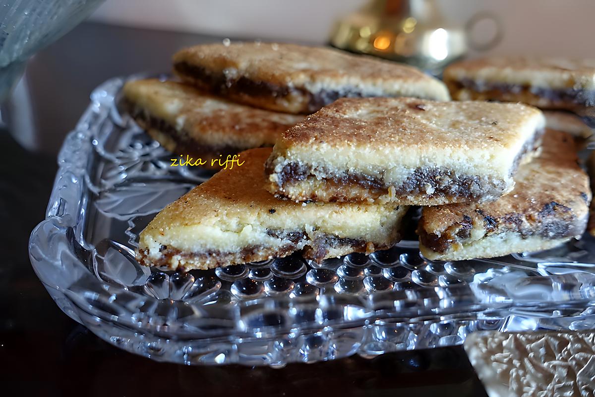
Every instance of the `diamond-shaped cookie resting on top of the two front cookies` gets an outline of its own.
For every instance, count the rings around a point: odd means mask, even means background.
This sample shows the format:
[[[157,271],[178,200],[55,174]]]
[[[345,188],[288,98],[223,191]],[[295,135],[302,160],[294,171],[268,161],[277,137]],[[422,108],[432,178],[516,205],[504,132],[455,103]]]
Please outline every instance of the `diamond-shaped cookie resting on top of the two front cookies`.
[[[268,189],[295,201],[494,200],[544,123],[522,104],[343,98],[281,135]]]

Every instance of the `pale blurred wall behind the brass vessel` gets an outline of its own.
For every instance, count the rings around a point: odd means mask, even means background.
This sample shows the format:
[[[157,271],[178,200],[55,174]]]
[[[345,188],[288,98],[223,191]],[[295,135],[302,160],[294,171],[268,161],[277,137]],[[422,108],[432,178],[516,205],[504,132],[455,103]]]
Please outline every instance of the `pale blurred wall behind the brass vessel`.
[[[367,0],[107,0],[91,20],[124,26],[327,42],[331,26]],[[465,24],[490,11],[501,18],[505,35],[489,52],[595,57],[592,0],[437,0],[447,21]],[[481,33],[481,32],[478,32]]]

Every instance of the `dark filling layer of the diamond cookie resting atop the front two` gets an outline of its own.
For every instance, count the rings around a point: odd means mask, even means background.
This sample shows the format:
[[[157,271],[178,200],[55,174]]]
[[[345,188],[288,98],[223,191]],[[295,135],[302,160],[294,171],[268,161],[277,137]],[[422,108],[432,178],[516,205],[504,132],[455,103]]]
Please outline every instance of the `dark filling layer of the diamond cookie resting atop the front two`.
[[[543,130],[538,130],[531,139],[525,142],[513,161],[511,176],[516,172],[524,155],[535,149],[542,135]],[[272,161],[267,162],[266,168],[267,174],[274,173]],[[322,170],[322,172],[330,174],[326,170]],[[312,173],[312,168],[309,165],[290,162],[283,167],[283,170],[277,176],[277,185],[282,188],[286,183],[292,184],[305,180],[310,176],[314,176],[314,173]],[[365,174],[344,172],[333,174],[333,176],[324,179],[339,185],[358,185],[364,187],[364,189],[376,190],[378,195],[386,194],[389,188],[383,180]],[[490,195],[499,196],[506,186],[504,181],[492,182],[477,175],[458,175],[453,170],[440,167],[423,167],[415,169],[402,185],[395,186],[396,195],[427,194],[426,187],[428,184],[434,189],[430,196],[454,196],[469,199],[483,198],[486,192],[490,193]],[[280,195],[283,195],[283,193],[280,193]]]

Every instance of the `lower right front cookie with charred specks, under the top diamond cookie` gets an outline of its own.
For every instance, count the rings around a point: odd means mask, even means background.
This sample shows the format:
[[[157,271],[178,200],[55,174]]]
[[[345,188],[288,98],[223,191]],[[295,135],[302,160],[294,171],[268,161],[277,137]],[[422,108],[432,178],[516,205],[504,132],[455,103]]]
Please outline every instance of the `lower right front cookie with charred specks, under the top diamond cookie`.
[[[591,190],[572,136],[547,130],[540,156],[521,165],[515,180],[515,189],[494,202],[424,207],[422,253],[432,260],[490,258],[583,234]]]

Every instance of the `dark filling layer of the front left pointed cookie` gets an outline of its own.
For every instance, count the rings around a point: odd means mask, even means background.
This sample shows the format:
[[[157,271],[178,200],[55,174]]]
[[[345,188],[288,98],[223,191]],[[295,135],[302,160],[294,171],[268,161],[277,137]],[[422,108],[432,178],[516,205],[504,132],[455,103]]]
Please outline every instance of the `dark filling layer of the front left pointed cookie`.
[[[274,252],[272,252],[272,254],[276,255],[277,257],[284,257],[286,255],[292,254],[292,252],[295,252],[300,240],[306,237],[306,233],[299,231],[287,232],[286,230],[267,230],[267,234],[283,240],[289,240],[289,243],[286,243],[280,248],[274,248]],[[353,249],[353,252],[365,252],[368,245],[365,240],[338,237],[327,234],[321,234],[314,240],[308,240],[307,244],[308,245],[306,245],[302,251],[303,257],[317,262],[322,261],[327,256],[328,252],[333,248],[349,246]],[[375,248],[384,249],[389,247],[375,245]],[[240,251],[236,252],[223,252],[216,249],[209,249],[201,252],[183,252],[177,248],[162,245],[159,249],[159,252],[161,252],[161,257],[158,260],[148,260],[148,251],[146,250],[139,251],[139,258],[137,259],[140,263],[145,265],[168,266],[170,264],[171,258],[177,255],[185,260],[205,262],[207,260],[215,260],[217,266],[225,266],[229,264],[230,258],[237,258],[242,263],[263,260],[264,258],[262,258],[262,251],[267,250],[271,251],[271,247],[264,245],[253,245],[242,248]],[[184,271],[184,267],[180,265],[177,270]]]

